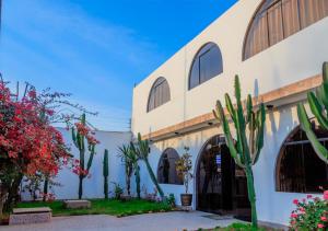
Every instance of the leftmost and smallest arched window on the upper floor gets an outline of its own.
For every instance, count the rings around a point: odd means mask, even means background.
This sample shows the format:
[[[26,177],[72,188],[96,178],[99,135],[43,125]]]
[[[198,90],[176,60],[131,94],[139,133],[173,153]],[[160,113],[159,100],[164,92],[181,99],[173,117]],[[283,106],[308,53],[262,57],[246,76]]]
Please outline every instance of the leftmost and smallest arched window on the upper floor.
[[[150,112],[171,100],[169,86],[165,78],[156,79],[148,100],[147,112]]]

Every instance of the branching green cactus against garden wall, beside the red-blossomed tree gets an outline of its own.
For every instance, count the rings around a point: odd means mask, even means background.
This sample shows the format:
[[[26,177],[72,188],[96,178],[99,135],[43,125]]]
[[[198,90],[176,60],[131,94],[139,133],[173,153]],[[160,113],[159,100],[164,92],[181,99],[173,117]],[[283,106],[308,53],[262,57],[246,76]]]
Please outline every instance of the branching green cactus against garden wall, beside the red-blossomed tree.
[[[80,123],[83,126],[86,126],[86,119],[85,119],[85,114],[82,114],[80,118]],[[78,148],[79,153],[80,153],[80,174],[79,174],[79,199],[82,198],[83,195],[83,180],[85,178],[85,174],[83,174],[83,171],[90,171],[90,168],[92,165],[93,157],[95,154],[95,145],[94,143],[89,143],[87,142],[87,149],[85,149],[85,135],[80,134],[78,130],[75,130],[74,127],[72,127],[72,140],[74,146]],[[85,166],[85,152],[86,150],[89,151],[89,160]]]

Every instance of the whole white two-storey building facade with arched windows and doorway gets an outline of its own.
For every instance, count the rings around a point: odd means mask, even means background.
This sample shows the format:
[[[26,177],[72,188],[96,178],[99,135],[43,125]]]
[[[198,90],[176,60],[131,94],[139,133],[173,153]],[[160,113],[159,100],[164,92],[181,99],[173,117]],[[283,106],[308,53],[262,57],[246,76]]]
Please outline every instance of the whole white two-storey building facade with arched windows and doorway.
[[[258,218],[288,223],[292,200],[327,187],[328,166],[298,128],[296,104],[321,83],[328,60],[328,0],[239,0],[133,89],[132,132],[151,140],[150,161],[165,194],[184,193],[175,160],[190,148],[192,208],[247,217],[245,175],[230,158],[216,100],[251,93],[268,108],[254,166]],[[306,105],[307,106],[307,105]],[[315,123],[325,143],[327,131]],[[328,145],[328,143],[327,143]],[[145,168],[142,184],[152,190]]]

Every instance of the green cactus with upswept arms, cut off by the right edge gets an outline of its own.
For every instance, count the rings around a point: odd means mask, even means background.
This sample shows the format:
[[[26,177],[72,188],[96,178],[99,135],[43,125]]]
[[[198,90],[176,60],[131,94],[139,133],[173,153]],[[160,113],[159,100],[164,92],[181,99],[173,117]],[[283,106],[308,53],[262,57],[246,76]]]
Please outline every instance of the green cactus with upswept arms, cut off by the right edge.
[[[319,125],[328,129],[328,62],[323,65],[323,84],[316,90],[316,93],[307,93],[307,101],[311,112],[317,118]],[[323,161],[328,163],[328,150],[320,143],[313,131],[312,124],[302,103],[297,105],[297,115],[301,128],[305,131],[315,152]]]

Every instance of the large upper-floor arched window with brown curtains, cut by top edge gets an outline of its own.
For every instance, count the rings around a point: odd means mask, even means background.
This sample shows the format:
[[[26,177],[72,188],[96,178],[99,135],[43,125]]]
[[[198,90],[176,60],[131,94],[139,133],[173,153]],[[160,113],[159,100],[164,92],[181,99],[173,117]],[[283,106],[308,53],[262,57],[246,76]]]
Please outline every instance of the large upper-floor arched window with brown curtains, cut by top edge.
[[[328,0],[265,0],[249,24],[244,60],[328,15]]]

